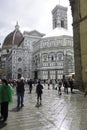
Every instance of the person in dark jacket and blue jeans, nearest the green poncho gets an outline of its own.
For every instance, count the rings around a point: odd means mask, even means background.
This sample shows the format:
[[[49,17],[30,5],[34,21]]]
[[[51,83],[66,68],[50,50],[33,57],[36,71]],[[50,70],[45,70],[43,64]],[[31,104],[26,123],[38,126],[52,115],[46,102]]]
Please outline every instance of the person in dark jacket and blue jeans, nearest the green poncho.
[[[16,87],[16,92],[17,92],[17,108],[23,107],[24,106],[24,81],[23,79],[18,79],[17,81],[17,87]]]

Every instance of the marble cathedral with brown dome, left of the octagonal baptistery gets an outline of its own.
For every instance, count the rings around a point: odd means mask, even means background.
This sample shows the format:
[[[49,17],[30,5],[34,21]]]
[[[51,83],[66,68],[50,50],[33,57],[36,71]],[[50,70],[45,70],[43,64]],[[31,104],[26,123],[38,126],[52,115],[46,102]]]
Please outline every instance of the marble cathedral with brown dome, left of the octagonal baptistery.
[[[32,77],[32,52],[33,42],[37,42],[44,34],[36,30],[22,34],[19,25],[4,40],[2,47],[2,68],[5,70],[4,77],[18,79],[20,77]]]

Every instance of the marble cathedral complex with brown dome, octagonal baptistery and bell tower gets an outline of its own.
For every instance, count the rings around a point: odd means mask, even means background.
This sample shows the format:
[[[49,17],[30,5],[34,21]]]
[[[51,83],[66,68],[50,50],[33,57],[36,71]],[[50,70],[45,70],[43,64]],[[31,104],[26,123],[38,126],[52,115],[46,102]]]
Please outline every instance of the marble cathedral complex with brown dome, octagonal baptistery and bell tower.
[[[74,73],[73,33],[67,26],[67,8],[52,10],[53,29],[48,34],[19,30],[18,23],[2,46],[4,77],[17,79],[62,79]]]

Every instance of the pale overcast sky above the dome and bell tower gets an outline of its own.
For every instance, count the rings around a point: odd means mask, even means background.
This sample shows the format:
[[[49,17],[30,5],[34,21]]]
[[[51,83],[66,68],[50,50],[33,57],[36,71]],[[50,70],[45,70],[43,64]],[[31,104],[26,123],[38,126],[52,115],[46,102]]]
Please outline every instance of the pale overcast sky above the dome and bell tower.
[[[51,11],[56,5],[68,7],[68,28],[72,26],[69,0],[2,0],[0,4],[0,43],[14,30],[16,22],[20,31],[37,30],[48,33],[52,30]]]

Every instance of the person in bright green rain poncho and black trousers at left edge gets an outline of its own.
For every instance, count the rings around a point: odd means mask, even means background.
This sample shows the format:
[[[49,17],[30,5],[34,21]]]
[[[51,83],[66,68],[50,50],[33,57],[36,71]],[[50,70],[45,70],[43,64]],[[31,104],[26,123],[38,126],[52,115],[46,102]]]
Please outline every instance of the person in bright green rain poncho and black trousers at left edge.
[[[1,105],[1,122],[7,121],[8,118],[8,105],[13,102],[12,94],[13,88],[8,84],[6,79],[1,80],[0,84],[0,105]]]

